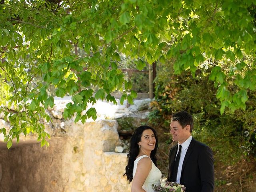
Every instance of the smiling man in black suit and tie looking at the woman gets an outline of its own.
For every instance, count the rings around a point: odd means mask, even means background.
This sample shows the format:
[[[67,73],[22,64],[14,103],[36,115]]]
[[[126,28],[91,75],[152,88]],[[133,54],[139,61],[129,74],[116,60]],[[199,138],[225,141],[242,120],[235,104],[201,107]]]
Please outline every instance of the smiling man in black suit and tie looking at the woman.
[[[172,115],[172,140],[168,181],[183,184],[187,192],[213,192],[214,159],[212,150],[192,138],[193,118],[186,111]]]

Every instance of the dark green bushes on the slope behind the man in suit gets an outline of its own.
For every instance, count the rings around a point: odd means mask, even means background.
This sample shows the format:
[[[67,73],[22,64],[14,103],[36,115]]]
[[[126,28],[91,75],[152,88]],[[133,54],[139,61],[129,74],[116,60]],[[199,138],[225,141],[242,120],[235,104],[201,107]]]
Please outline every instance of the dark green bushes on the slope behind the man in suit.
[[[186,110],[194,118],[192,136],[212,148],[215,164],[232,166],[249,156],[256,159],[255,91],[248,92],[246,110],[238,109],[233,112],[230,109],[220,114],[221,102],[215,95],[217,88],[209,80],[212,71],[210,62],[211,60],[202,63],[194,78],[189,71],[175,75],[174,70],[169,70],[174,64],[173,60],[166,62],[168,67],[166,63],[164,66],[158,63],[160,70],[155,80],[156,96],[149,118],[160,131],[160,140],[164,141],[160,147],[161,158],[168,154],[172,146],[170,134],[163,134],[170,132],[171,114]],[[216,65],[225,68],[224,61]],[[226,65],[226,68],[229,67]],[[168,158],[164,158],[161,162],[163,170],[167,163]]]

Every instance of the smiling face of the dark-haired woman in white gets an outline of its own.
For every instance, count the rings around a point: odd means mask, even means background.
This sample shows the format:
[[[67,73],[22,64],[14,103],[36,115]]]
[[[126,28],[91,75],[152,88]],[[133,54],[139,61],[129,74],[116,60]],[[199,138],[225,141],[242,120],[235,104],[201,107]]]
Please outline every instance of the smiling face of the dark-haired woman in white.
[[[138,145],[142,150],[154,150],[156,146],[156,138],[154,132],[151,129],[144,130]]]

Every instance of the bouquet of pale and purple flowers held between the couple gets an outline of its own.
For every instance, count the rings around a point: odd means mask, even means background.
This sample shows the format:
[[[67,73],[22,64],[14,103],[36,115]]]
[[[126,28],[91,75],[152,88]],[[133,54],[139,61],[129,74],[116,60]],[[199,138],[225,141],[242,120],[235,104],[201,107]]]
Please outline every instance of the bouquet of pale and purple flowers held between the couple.
[[[184,185],[168,181],[159,186],[152,184],[152,187],[154,192],[185,192],[186,189]]]

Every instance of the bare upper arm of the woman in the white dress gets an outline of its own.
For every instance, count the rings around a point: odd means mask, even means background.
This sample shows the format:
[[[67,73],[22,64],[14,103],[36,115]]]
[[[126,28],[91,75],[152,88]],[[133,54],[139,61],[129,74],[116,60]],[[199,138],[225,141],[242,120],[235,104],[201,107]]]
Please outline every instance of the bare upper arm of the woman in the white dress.
[[[142,158],[138,162],[135,176],[132,180],[132,192],[146,192],[142,189],[142,186],[148,177],[151,168],[152,162],[150,158]]]

